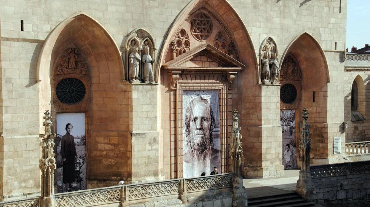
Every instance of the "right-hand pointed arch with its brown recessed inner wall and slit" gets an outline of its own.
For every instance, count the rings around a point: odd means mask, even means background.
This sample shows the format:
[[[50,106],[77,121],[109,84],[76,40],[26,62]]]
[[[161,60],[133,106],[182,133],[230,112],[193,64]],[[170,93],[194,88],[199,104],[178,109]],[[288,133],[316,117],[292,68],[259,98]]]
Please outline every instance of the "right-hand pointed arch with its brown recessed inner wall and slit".
[[[329,68],[326,57],[320,44],[309,33],[303,32],[297,35],[285,49],[280,61],[280,68],[285,59],[290,56],[296,58],[296,62],[302,72],[302,79],[299,80],[300,89],[297,90],[300,96],[300,103],[294,107],[296,111],[307,108],[311,118],[311,139],[312,157],[327,158],[330,154],[326,128],[328,122],[328,83],[330,82]],[[280,71],[283,74],[283,71]],[[280,76],[281,78],[281,76]],[[296,123],[301,123],[299,116]],[[297,140],[296,140],[297,141]]]

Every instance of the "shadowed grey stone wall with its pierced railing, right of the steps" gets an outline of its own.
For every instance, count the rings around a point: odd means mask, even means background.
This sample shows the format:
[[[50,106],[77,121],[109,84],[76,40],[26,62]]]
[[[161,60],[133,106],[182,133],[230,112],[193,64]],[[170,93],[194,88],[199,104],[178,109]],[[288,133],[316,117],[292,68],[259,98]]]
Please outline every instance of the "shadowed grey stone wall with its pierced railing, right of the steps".
[[[311,167],[314,199],[323,206],[369,206],[369,167],[369,161]]]

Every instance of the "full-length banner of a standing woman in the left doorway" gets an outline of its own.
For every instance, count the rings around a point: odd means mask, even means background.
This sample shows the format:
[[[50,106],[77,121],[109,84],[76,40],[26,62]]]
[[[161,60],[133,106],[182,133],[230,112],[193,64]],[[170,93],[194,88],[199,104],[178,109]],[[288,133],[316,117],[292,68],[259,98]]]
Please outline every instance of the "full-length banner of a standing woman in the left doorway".
[[[57,114],[57,189],[86,189],[85,113]]]

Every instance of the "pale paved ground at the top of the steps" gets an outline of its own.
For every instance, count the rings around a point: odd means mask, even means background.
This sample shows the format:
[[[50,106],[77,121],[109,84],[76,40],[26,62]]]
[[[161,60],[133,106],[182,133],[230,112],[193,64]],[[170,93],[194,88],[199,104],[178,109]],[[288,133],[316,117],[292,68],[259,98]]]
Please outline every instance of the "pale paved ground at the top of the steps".
[[[243,179],[248,198],[294,192],[299,170],[285,170],[284,173],[285,175],[280,177]]]

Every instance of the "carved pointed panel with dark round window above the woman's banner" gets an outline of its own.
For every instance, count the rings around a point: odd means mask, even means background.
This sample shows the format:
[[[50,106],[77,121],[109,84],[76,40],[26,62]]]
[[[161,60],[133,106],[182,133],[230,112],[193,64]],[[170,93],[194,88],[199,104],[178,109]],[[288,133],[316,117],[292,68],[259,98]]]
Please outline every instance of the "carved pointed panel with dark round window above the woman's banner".
[[[53,104],[58,112],[87,111],[90,107],[90,71],[73,44],[58,57],[53,72]]]

